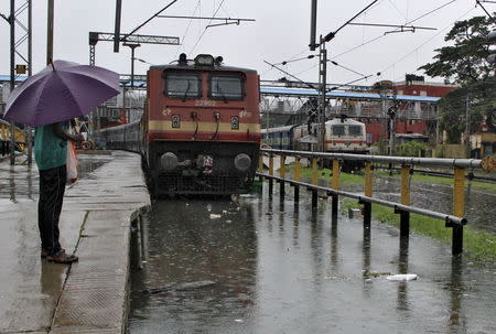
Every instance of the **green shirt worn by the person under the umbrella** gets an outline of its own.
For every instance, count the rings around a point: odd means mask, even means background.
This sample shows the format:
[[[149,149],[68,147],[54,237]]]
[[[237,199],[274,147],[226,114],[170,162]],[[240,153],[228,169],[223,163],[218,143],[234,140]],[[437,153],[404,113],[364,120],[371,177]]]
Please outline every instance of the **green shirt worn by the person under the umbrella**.
[[[65,123],[63,125],[66,126]],[[54,125],[34,130],[34,159],[39,170],[50,170],[67,163],[67,140],[55,134]]]

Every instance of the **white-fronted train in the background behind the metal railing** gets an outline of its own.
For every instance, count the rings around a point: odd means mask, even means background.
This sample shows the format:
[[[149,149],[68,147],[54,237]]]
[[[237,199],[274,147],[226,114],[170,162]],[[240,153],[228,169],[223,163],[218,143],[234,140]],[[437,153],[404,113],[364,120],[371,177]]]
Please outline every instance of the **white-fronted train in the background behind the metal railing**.
[[[316,150],[319,125],[284,126],[261,130],[262,144],[277,150]],[[368,154],[365,123],[346,117],[325,122],[324,151],[330,153]],[[358,162],[347,161],[344,170],[359,169]]]

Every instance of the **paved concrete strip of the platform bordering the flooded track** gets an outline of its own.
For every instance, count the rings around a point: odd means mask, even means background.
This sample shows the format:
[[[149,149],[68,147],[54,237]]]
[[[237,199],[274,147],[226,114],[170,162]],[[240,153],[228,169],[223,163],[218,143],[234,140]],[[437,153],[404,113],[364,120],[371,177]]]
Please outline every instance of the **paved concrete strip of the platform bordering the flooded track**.
[[[76,246],[79,262],[68,270],[48,333],[126,333],[130,305],[130,227],[148,211],[151,201],[139,155],[114,154],[119,157],[98,170],[96,180],[83,180],[68,190],[74,200],[69,200],[66,209],[71,206],[80,209],[77,194],[88,188],[94,194],[96,209],[91,209],[91,203],[85,203],[88,217]],[[114,175],[119,177],[112,182],[108,176],[116,170],[119,173]],[[120,198],[122,205],[101,208],[100,196],[111,196],[112,204]]]

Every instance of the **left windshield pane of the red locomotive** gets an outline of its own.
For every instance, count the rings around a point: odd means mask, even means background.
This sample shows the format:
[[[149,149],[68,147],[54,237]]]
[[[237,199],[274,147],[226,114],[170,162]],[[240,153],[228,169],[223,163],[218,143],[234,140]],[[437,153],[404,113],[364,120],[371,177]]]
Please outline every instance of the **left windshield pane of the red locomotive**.
[[[194,74],[168,73],[165,75],[165,94],[169,97],[201,97],[201,77]]]

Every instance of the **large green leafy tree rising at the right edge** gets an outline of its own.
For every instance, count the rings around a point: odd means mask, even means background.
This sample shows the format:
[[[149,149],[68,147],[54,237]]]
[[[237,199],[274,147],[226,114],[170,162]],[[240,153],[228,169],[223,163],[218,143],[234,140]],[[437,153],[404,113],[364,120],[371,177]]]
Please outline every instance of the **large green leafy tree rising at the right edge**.
[[[492,19],[486,17],[455,22],[444,37],[451,45],[436,49],[435,62],[419,67],[429,76],[444,77],[461,86],[439,104],[440,126],[446,130],[449,142],[460,142],[465,131],[467,103],[471,132],[478,131],[483,121],[489,130],[496,131],[495,66],[487,62],[490,52],[486,43],[494,28]]]

